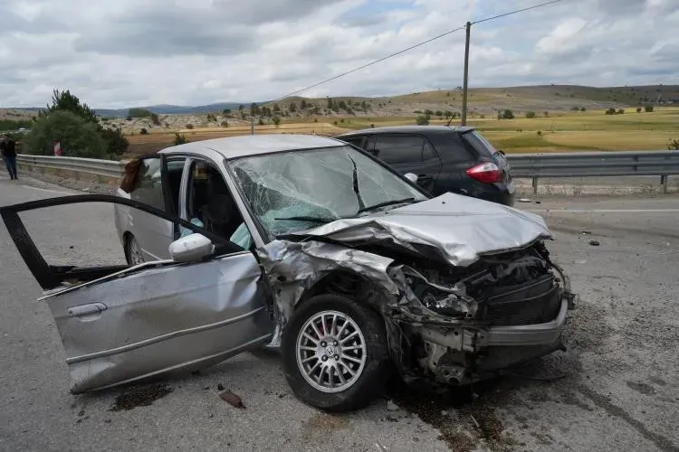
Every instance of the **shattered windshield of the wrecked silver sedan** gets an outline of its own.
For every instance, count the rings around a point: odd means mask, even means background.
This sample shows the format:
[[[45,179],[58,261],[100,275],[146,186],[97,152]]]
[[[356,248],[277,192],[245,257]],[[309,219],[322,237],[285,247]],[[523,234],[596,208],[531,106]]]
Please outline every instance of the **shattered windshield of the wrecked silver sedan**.
[[[229,165],[272,237],[371,209],[426,200],[349,146],[243,157]]]

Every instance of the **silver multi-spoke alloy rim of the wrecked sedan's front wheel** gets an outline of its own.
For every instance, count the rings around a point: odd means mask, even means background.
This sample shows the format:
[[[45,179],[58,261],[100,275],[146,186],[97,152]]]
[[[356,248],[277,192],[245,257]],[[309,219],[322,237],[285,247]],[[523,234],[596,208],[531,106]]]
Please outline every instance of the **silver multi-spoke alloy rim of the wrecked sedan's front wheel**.
[[[318,391],[346,391],[359,380],[366,359],[366,339],[359,325],[344,313],[313,315],[297,335],[297,366]]]

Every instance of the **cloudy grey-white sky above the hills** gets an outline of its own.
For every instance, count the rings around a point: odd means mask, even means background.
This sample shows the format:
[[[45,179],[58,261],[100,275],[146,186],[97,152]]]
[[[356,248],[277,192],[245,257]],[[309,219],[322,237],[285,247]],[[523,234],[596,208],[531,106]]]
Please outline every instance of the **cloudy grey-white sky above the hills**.
[[[274,99],[544,0],[0,0],[0,107]],[[470,86],[679,83],[679,0],[562,0],[472,29]],[[305,91],[462,85],[464,31]]]

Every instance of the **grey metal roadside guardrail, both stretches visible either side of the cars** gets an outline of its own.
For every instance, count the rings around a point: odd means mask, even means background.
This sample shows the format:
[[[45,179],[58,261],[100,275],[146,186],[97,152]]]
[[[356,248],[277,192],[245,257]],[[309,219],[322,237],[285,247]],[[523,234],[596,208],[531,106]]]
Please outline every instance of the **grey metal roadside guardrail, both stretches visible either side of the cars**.
[[[679,151],[575,152],[550,154],[508,154],[515,178],[531,178],[533,192],[545,177],[601,177],[659,175],[661,193],[667,176],[679,174]],[[17,155],[17,164],[41,172],[67,171],[81,175],[120,180],[126,162],[51,155]]]

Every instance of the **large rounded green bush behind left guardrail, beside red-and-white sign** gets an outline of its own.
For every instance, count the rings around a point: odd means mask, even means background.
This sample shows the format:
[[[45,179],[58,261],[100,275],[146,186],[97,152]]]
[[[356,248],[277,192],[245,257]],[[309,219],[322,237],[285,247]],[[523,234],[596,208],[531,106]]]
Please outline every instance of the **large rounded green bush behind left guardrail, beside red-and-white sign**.
[[[100,135],[99,125],[71,111],[55,110],[38,118],[24,137],[24,152],[33,155],[53,155],[53,141],[59,141],[63,155],[72,157],[106,158],[107,144]]]

